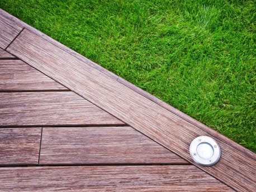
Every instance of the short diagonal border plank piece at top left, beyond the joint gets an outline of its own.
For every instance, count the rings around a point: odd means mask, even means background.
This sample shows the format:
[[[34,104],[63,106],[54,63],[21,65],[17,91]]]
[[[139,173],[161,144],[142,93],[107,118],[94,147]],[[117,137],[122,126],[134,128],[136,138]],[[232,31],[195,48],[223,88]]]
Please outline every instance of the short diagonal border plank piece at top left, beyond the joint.
[[[6,47],[15,39],[22,27],[0,14],[0,47]]]

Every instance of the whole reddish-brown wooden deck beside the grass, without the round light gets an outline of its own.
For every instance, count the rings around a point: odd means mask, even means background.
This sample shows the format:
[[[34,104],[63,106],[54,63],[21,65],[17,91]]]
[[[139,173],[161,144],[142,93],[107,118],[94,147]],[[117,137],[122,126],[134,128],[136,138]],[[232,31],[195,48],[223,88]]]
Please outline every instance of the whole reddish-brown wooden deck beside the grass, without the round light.
[[[201,135],[214,166],[189,155]],[[0,191],[256,191],[255,160],[0,9]]]

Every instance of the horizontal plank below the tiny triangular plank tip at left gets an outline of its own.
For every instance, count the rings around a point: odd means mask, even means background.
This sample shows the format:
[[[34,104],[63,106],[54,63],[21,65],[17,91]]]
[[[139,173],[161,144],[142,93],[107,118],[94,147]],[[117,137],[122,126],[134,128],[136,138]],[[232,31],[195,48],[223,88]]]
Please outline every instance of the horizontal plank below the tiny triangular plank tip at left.
[[[0,60],[0,90],[68,90],[21,60]]]

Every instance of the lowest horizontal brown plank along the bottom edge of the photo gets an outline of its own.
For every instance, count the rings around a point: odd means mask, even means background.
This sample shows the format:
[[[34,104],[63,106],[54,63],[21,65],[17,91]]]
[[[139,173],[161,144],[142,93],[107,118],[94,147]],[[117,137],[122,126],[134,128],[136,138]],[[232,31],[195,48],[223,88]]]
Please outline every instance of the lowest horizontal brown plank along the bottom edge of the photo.
[[[1,191],[233,191],[195,166],[0,168]]]

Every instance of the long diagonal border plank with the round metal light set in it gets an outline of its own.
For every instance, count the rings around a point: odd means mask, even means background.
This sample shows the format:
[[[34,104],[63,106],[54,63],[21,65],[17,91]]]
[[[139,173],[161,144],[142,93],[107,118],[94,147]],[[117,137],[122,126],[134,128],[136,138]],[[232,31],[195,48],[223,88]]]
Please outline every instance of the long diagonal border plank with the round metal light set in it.
[[[189,143],[197,136],[210,136],[29,30],[22,31],[8,51],[193,164]],[[215,140],[222,148],[220,162],[195,165],[236,190],[254,191],[255,158]]]

